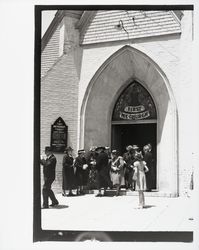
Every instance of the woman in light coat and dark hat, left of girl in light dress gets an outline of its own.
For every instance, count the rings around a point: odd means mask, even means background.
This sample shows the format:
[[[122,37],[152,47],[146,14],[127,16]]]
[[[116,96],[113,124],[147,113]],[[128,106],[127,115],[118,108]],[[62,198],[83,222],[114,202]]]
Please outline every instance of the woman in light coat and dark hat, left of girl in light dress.
[[[113,186],[116,187],[116,196],[119,195],[119,190],[122,185],[125,184],[124,180],[124,160],[117,150],[113,150],[111,152],[111,170],[110,170],[110,177],[113,183]]]

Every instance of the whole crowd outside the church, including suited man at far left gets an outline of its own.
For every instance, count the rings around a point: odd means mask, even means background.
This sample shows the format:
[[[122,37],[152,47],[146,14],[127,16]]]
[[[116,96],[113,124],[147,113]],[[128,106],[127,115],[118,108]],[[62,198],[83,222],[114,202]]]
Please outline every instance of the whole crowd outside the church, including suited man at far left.
[[[49,207],[48,198],[52,201],[50,206],[56,206],[59,202],[51,189],[55,180],[56,157],[51,147],[45,148],[45,156],[41,157],[40,163],[44,174],[43,208]],[[100,146],[92,147],[88,152],[78,150],[78,156],[74,157],[73,149],[67,147],[62,167],[63,196],[82,195],[85,190],[98,189],[96,197],[101,197],[107,195],[108,188],[114,188],[118,196],[121,187],[125,187],[139,192],[139,207],[143,208],[144,191],[152,189],[154,158],[150,143],[142,150],[137,145],[128,145],[123,155]]]

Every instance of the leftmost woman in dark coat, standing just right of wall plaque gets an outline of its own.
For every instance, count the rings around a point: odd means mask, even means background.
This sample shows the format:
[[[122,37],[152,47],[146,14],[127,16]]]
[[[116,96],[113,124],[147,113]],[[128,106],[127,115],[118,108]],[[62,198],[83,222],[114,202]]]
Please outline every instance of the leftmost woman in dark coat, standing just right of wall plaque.
[[[64,151],[64,157],[62,162],[62,195],[66,196],[65,190],[69,190],[68,196],[74,196],[72,193],[72,189],[76,187],[75,185],[75,173],[73,168],[73,156],[72,156],[73,149],[68,147]]]

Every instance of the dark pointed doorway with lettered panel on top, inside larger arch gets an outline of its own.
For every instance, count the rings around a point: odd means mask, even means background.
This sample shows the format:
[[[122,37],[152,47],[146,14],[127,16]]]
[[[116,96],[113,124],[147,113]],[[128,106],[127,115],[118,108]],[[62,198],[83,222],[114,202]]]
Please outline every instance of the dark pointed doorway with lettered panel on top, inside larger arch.
[[[157,112],[149,92],[134,81],[122,91],[112,114],[111,148],[126,151],[127,145],[136,144],[142,150],[150,143],[154,158],[153,189],[156,189]]]

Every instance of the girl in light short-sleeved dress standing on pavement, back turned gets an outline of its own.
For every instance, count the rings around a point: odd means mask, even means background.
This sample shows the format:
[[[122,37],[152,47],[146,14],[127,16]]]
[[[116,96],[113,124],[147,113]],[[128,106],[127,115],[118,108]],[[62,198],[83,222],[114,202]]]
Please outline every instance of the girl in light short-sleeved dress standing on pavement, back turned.
[[[135,154],[136,161],[134,162],[134,176],[133,179],[136,181],[136,190],[139,193],[139,208],[145,206],[144,191],[146,190],[146,176],[145,172],[149,171],[146,162],[143,161],[141,152]]]

